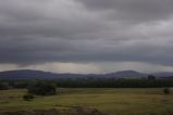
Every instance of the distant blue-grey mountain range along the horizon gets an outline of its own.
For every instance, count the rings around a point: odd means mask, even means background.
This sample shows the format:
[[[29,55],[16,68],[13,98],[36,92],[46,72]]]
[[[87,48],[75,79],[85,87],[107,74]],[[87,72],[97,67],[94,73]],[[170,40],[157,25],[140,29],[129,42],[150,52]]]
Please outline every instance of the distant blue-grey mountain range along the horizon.
[[[149,74],[135,71],[121,71],[108,74],[59,74],[34,69],[18,69],[0,72],[0,79],[66,79],[66,78],[146,78]],[[159,78],[173,78],[173,73],[153,73]]]

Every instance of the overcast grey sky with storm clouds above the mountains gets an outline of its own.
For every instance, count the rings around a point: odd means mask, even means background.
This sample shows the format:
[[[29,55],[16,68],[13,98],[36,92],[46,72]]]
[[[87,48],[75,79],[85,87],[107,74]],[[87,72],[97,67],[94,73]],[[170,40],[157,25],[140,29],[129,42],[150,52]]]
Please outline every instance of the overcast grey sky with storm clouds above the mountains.
[[[173,72],[173,0],[0,0],[0,71]]]

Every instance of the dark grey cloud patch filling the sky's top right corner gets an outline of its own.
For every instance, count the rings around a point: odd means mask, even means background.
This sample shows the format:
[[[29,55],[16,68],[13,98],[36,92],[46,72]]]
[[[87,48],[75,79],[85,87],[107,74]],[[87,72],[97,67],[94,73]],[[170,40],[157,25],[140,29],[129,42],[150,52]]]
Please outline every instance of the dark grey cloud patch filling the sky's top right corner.
[[[110,18],[131,22],[165,20],[172,16],[172,0],[78,0],[88,10],[108,11]]]

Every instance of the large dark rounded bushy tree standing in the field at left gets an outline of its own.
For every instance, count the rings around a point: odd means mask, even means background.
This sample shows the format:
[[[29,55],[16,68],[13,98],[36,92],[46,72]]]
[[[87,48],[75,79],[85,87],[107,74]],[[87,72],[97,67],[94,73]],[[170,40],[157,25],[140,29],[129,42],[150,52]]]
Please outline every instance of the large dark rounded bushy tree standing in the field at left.
[[[27,90],[28,93],[37,94],[37,95],[52,95],[55,94],[57,87],[54,84],[48,81],[37,81],[32,84]]]

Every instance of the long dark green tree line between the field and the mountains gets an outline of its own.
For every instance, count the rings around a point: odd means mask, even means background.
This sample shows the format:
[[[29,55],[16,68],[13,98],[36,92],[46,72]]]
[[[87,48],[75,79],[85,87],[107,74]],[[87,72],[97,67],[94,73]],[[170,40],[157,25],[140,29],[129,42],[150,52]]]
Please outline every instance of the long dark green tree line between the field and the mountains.
[[[0,80],[0,90],[8,88],[27,88],[36,80]],[[159,88],[173,87],[173,79],[115,79],[115,78],[69,78],[40,80],[62,88]]]

